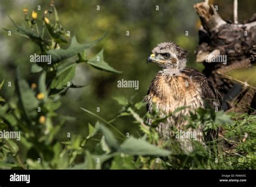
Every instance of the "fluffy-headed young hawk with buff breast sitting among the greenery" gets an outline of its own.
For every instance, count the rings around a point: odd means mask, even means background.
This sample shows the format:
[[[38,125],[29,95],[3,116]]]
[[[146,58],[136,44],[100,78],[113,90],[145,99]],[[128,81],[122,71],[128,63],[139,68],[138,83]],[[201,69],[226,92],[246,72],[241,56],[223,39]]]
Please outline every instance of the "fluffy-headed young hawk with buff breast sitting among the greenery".
[[[154,77],[145,96],[147,111],[151,112],[154,105],[160,116],[164,117],[179,107],[185,108],[158,124],[156,130],[164,140],[173,135],[172,126],[179,131],[184,129],[187,125],[184,115],[206,105],[211,105],[217,110],[221,107],[221,96],[213,87],[213,83],[196,69],[186,67],[187,54],[187,51],[174,42],[163,42],[153,48],[152,54],[147,57],[147,63],[154,62],[163,68]],[[194,139],[203,144],[218,136],[218,131],[214,130],[204,135],[201,126],[193,132],[196,132]],[[178,141],[183,150],[193,150],[192,143],[186,136],[180,137]]]

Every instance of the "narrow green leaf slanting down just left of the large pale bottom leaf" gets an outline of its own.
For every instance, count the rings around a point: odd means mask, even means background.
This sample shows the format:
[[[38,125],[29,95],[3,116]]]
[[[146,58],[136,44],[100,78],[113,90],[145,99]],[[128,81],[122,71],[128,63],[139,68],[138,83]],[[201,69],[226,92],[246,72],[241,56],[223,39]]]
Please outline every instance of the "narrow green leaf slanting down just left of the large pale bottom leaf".
[[[110,150],[112,150],[112,152],[117,151],[120,146],[118,145],[118,141],[116,140],[116,138],[114,138],[113,133],[107,127],[100,124],[98,121],[96,123],[96,126],[99,131],[101,131],[105,136],[105,141],[107,143],[107,146],[109,146]]]

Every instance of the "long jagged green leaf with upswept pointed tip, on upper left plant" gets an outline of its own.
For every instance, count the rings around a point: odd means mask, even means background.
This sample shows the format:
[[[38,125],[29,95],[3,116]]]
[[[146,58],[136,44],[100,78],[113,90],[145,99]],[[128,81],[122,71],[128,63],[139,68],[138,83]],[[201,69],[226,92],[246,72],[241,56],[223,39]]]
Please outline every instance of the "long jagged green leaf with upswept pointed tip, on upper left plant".
[[[79,44],[77,42],[76,37],[72,37],[71,44],[69,48],[67,49],[51,49],[50,51],[46,52],[48,55],[51,55],[51,61],[52,63],[57,63],[66,59],[69,59],[70,57],[83,52],[85,49],[89,49],[95,44],[97,44],[100,40],[102,40],[106,36],[107,32],[103,35],[103,37],[100,37],[96,41],[91,42],[90,44]]]

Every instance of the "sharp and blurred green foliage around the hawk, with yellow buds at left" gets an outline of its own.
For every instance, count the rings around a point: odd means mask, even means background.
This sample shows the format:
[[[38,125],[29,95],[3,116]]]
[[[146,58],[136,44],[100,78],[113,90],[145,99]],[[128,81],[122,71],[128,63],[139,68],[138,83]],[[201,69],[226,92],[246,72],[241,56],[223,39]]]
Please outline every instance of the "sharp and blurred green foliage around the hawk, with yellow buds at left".
[[[87,59],[87,49],[96,45],[102,38],[90,44],[79,44],[76,37],[70,38],[60,24],[55,6],[43,15],[43,23],[33,14],[28,18],[24,11],[24,24],[12,33],[31,39],[41,50],[41,54],[52,56],[51,64],[35,63],[31,73],[36,75],[31,86],[22,77],[19,68],[16,71],[16,94],[8,101],[0,97],[0,131],[21,132],[21,141],[0,139],[1,169],[255,169],[255,128],[254,116],[247,114],[225,114],[212,109],[199,109],[191,113],[189,127],[203,125],[206,130],[221,128],[223,135],[208,148],[192,141],[194,150],[184,153],[176,138],[163,142],[156,132],[161,118],[157,111],[152,114],[140,114],[145,108],[143,102],[134,103],[133,97],[116,97],[122,106],[117,116],[105,120],[97,114],[80,108],[99,119],[95,125],[88,124],[86,135],[69,134],[59,140],[57,133],[73,117],[61,116],[57,109],[62,105],[60,98],[70,89],[84,85],[75,85],[72,79],[77,64],[90,66],[112,73],[120,71],[112,68],[103,59],[103,49],[92,59]],[[51,19],[52,13],[54,14]],[[38,24],[38,25],[37,25]],[[41,30],[39,30],[41,28]],[[5,29],[10,31],[8,29]],[[77,59],[75,59],[75,57]],[[2,89],[5,81],[0,84]],[[179,112],[174,111],[172,114]],[[134,118],[134,124],[140,128],[140,138],[123,134],[114,125],[121,118]],[[147,119],[152,121],[151,126]],[[86,123],[86,122],[84,122]],[[131,122],[130,122],[131,123]],[[75,123],[73,123],[75,125]],[[118,134],[118,136],[117,136]],[[95,146],[90,146],[95,143]]]

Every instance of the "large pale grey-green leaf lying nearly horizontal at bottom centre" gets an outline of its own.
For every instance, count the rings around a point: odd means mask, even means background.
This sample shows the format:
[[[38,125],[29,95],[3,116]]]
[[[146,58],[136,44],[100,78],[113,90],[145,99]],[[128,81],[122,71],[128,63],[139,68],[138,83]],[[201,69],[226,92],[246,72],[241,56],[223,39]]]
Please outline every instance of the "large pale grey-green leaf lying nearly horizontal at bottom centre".
[[[119,151],[128,155],[167,156],[171,154],[169,150],[161,149],[145,140],[136,139],[133,136],[124,141]]]

